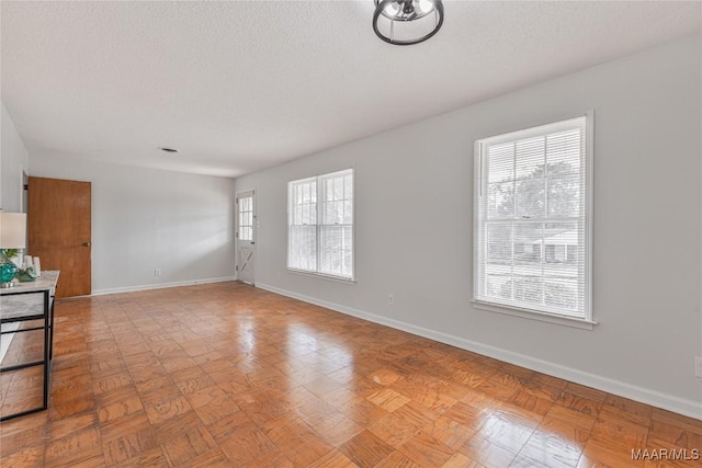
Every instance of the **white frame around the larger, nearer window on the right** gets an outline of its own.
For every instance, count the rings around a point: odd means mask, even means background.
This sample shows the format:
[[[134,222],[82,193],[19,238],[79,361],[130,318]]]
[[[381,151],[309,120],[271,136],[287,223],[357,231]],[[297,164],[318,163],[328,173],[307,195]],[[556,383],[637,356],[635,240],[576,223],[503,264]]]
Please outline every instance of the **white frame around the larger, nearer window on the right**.
[[[535,125],[529,128],[524,128],[516,132],[507,132],[503,134],[498,134],[490,137],[478,138],[475,140],[474,148],[474,213],[473,213],[473,307],[482,310],[488,310],[499,313],[506,313],[510,316],[523,317],[528,319],[534,319],[540,321],[546,321],[551,323],[558,323],[575,328],[581,328],[586,330],[592,330],[593,326],[597,322],[593,320],[592,313],[592,202],[593,202],[593,116],[595,113],[592,110],[587,111],[585,113],[580,113],[578,115],[570,115],[563,118],[557,118],[541,125]],[[478,278],[480,276],[485,277],[484,269],[486,261],[482,258],[480,252],[480,240],[484,239],[483,233],[480,232],[482,224],[487,226],[487,224],[482,222],[482,216],[487,216],[488,209],[488,199],[487,199],[487,164],[485,163],[486,155],[484,153],[484,148],[486,147],[486,142],[495,145],[498,142],[507,142],[507,141],[518,141],[521,139],[535,137],[537,135],[548,135],[551,133],[556,133],[556,126],[561,124],[567,124],[569,121],[577,118],[585,118],[585,151],[584,158],[585,161],[582,163],[582,170],[585,171],[585,185],[580,187],[581,194],[584,194],[585,209],[584,214],[578,216],[578,222],[582,219],[585,222],[584,232],[585,232],[585,259],[584,259],[584,273],[582,277],[585,281],[585,296],[584,296],[584,315],[575,316],[573,313],[564,312],[557,313],[553,311],[539,310],[529,307],[528,304],[521,303],[519,305],[505,304],[499,300],[486,300],[484,297],[479,297],[479,290],[477,290]],[[548,128],[552,126],[552,130]],[[485,193],[484,193],[485,191]],[[547,219],[544,218],[544,219]],[[559,222],[559,218],[553,218],[553,222]],[[487,228],[485,228],[487,229]],[[483,249],[485,255],[488,254],[487,247]],[[545,246],[541,247],[541,255],[542,261],[545,259]],[[568,248],[565,248],[566,260],[565,263],[568,263]],[[580,282],[581,274],[578,273],[578,282]]]

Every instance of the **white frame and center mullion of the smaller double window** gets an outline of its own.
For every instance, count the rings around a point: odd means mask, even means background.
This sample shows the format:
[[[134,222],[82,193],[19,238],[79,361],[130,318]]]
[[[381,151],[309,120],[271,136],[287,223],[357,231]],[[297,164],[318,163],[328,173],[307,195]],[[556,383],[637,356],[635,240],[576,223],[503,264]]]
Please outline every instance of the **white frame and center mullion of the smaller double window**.
[[[331,273],[327,273],[327,272],[321,272],[320,270],[320,262],[322,259],[322,253],[321,253],[321,231],[324,229],[325,226],[333,226],[333,225],[329,225],[329,224],[322,224],[324,220],[324,216],[322,216],[322,207],[324,207],[324,203],[325,201],[322,199],[322,194],[324,194],[324,187],[322,184],[326,180],[329,179],[333,179],[335,176],[346,176],[346,175],[351,175],[351,197],[349,198],[351,201],[351,224],[350,224],[350,228],[351,228],[351,275],[350,276],[343,276],[343,275],[335,275]],[[298,226],[298,225],[293,225],[293,219],[292,219],[292,210],[294,209],[294,198],[293,198],[293,189],[301,183],[309,183],[309,182],[314,182],[315,184],[315,269],[314,270],[305,270],[305,269],[301,269],[301,267],[294,267],[291,266],[292,263],[292,227],[293,226]],[[347,201],[347,198],[342,199],[342,202]],[[338,201],[336,201],[338,202]],[[287,183],[287,255],[286,255],[286,270],[291,273],[295,273],[295,274],[301,274],[301,275],[306,275],[306,276],[313,276],[313,277],[320,277],[320,278],[325,278],[325,279],[330,279],[330,281],[336,281],[336,282],[340,282],[340,283],[355,283],[355,171],[354,168],[348,168],[348,169],[342,169],[339,171],[332,171],[332,172],[327,172],[324,174],[318,174],[318,175],[314,175],[314,176],[309,176],[309,178],[303,178],[303,179],[297,179],[294,181],[288,181]],[[348,224],[342,224],[348,226]]]

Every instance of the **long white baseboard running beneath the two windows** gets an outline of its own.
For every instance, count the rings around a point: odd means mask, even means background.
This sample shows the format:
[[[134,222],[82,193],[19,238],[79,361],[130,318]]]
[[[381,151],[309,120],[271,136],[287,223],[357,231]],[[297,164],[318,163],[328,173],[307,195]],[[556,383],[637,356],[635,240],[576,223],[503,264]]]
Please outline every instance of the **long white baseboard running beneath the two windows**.
[[[631,400],[639,401],[642,403],[650,404],[657,408],[663,408],[665,410],[683,414],[686,416],[702,420],[702,403],[694,400],[687,400],[671,395],[661,393],[656,390],[638,387],[621,380],[614,380],[609,377],[602,377],[596,374],[574,369],[561,364],[525,356],[512,351],[490,346],[488,344],[466,340],[452,334],[430,330],[423,327],[417,327],[411,323],[406,323],[399,320],[389,319],[387,317],[377,316],[375,313],[365,312],[351,307],[341,306],[339,304],[318,299],[312,296],[306,296],[304,294],[297,294],[290,290],[281,289],[268,284],[257,283],[256,286],[271,293],[280,294],[282,296],[287,296],[305,303],[314,304],[316,306],[326,307],[327,309],[331,309],[341,313],[353,316],[374,323],[380,323],[397,330],[403,330],[408,333],[450,344],[462,350],[471,351],[554,377],[563,378],[565,380],[574,381],[576,384],[585,385],[587,387],[596,388],[598,390],[607,391],[608,393],[618,395],[620,397],[629,398]]]

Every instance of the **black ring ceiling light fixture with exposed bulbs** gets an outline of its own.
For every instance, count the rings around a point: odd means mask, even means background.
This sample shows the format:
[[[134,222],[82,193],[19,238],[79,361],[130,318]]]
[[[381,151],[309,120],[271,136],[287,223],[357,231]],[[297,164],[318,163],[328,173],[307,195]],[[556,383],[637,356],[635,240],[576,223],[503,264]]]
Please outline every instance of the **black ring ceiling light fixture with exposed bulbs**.
[[[419,44],[437,34],[443,24],[441,0],[374,1],[373,31],[388,44]]]

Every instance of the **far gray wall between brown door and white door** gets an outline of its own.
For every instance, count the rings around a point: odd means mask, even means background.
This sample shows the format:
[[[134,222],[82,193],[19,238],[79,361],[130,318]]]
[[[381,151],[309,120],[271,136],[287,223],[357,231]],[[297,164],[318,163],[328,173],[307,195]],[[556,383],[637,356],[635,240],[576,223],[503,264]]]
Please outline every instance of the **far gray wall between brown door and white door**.
[[[65,157],[31,160],[33,176],[92,182],[93,294],[234,277],[231,179]]]

